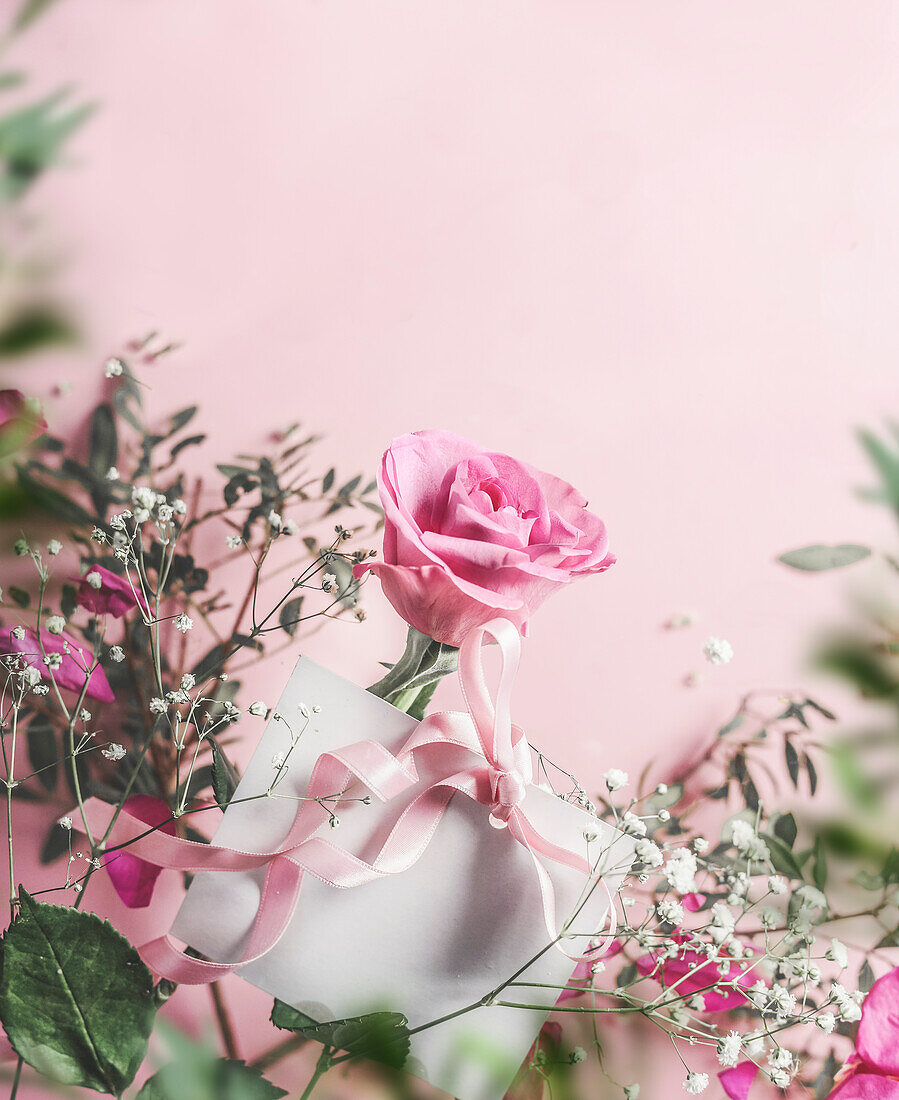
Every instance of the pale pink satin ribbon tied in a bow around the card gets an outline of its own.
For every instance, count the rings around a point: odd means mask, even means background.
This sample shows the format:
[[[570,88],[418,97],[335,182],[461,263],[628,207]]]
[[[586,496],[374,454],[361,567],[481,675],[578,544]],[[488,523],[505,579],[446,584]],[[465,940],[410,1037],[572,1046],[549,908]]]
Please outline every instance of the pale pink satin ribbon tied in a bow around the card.
[[[498,644],[502,671],[495,701],[484,678],[481,649],[485,635]],[[468,713],[443,712],[427,716],[397,756],[377,741],[359,741],[333,752],[324,752],[315,763],[293,825],[284,842],[272,851],[241,851],[213,844],[198,844],[162,832],[146,832],[146,824],[123,811],[114,827],[116,844],[158,867],[180,871],[245,871],[266,867],[259,909],[239,959],[212,963],[186,955],[169,935],[140,948],[155,974],[185,985],[216,981],[270,952],[284,934],[296,910],[305,875],[347,889],[388,875],[399,875],[418,860],[430,843],[450,800],[462,793],[489,807],[492,824],[507,827],[511,836],[530,854],[540,887],[544,920],[556,938],[552,880],[544,860],[549,859],[586,877],[591,869],[583,856],[544,837],[522,810],[531,780],[530,750],[522,730],[512,723],[512,689],[520,657],[518,631],[506,619],[494,619],[473,630],[459,653],[459,679]],[[462,770],[460,750],[471,759]],[[420,791],[399,814],[377,856],[366,862],[325,836],[330,811],[316,799],[333,799],[355,782],[383,802],[398,799],[419,782],[416,760],[427,760],[431,773],[452,772]],[[85,803],[85,817],[94,835],[102,835],[112,821],[113,807],[98,799]],[[146,834],[146,835],[144,835]],[[605,883],[602,883],[605,888]],[[609,893],[607,888],[606,893]],[[607,911],[614,922],[614,905]],[[614,926],[607,938],[614,935]],[[596,957],[597,952],[589,953]],[[572,955],[583,957],[584,953]]]

